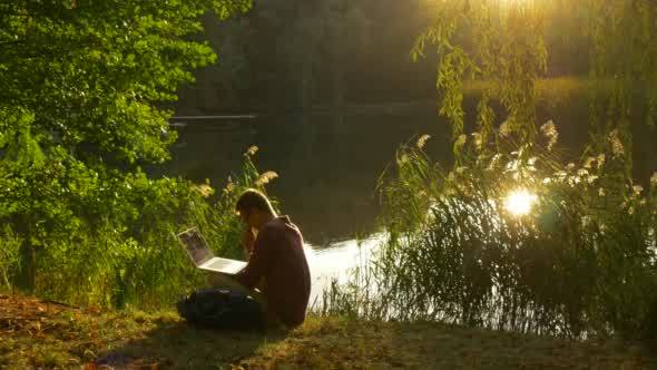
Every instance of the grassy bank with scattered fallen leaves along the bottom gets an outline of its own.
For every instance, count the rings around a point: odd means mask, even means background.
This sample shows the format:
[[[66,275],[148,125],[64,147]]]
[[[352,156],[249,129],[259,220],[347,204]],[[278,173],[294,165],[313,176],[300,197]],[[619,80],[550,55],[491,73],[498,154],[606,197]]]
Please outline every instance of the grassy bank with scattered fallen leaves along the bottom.
[[[650,369],[639,342],[573,342],[441,323],[311,315],[288,332],[218,332],[173,312],[100,311],[0,295],[0,368]]]

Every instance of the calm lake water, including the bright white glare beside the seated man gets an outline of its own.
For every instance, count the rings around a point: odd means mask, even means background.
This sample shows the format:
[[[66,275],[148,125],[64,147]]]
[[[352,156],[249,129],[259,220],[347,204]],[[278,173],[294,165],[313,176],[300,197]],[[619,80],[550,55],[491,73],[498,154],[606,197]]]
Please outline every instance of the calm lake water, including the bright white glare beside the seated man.
[[[553,118],[561,145],[578,147],[586,142],[585,116],[569,113]],[[281,202],[282,212],[301,227],[307,243],[315,279],[312,300],[331,278],[345,279],[375,247],[376,182],[400,145],[428,134],[430,156],[444,165],[452,160],[450,128],[429,105],[404,114],[179,119],[176,127],[179,138],[174,159],[164,173],[196,182],[208,178],[216,188],[239,172],[249,146],[259,148],[256,165],[261,173],[280,175],[268,186],[269,195]],[[640,178],[657,171],[654,143],[655,130],[635,137],[635,169]]]

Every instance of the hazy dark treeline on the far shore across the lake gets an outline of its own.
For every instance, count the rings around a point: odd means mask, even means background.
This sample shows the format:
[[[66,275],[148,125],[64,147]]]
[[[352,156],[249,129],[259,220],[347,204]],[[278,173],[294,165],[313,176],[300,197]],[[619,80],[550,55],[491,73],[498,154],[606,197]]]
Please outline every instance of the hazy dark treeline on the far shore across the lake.
[[[588,71],[587,14],[546,13],[548,75]],[[433,21],[424,0],[255,0],[246,16],[205,18],[218,62],[180,91],[178,114],[300,111],[313,105],[411,101],[435,97],[435,52],[410,51]],[[468,35],[463,35],[468,39]]]

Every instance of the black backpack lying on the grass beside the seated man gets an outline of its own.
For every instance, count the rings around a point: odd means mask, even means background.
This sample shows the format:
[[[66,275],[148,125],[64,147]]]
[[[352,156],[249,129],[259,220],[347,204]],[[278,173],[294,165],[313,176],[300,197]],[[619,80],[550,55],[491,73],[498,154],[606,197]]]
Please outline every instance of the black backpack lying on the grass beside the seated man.
[[[259,303],[228,290],[196,291],[177,304],[178,313],[198,328],[219,330],[263,330]]]

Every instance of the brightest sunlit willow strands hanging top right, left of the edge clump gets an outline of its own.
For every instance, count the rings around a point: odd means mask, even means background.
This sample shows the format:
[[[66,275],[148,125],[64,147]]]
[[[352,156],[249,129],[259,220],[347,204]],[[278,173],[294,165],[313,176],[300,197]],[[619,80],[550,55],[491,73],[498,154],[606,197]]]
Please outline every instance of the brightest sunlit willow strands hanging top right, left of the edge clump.
[[[491,139],[491,100],[504,109],[510,135],[528,143],[536,136],[536,80],[547,71],[542,7],[499,0],[434,4],[433,25],[418,39],[413,58],[434,47],[440,114],[450,119],[454,140],[463,134],[463,80],[490,81],[478,106],[478,132]],[[458,149],[455,147],[455,149]],[[455,150],[458,154],[458,150]]]

